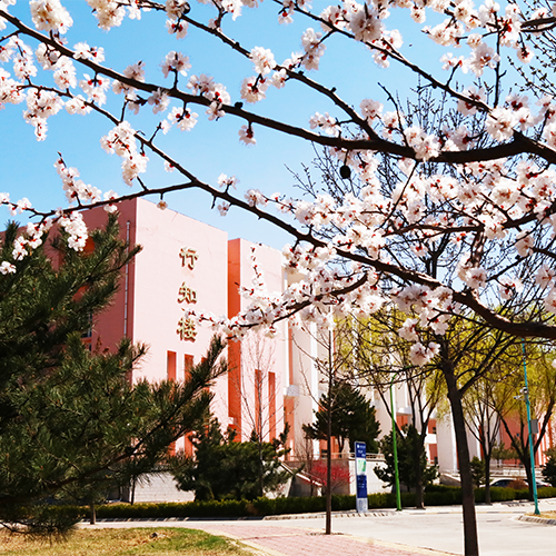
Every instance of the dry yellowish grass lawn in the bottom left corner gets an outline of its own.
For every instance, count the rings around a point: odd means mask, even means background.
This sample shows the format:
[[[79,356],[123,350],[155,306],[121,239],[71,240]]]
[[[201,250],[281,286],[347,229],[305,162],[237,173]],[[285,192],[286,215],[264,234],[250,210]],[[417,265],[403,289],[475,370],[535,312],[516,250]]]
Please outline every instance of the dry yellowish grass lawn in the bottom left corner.
[[[196,529],[78,529],[61,542],[0,533],[0,556],[252,556],[238,543]]]

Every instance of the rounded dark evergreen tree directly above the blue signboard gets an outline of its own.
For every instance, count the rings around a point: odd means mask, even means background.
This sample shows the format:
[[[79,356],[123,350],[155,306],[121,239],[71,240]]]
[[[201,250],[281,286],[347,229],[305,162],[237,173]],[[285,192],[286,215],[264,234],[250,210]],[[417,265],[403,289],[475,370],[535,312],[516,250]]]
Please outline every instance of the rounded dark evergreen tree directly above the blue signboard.
[[[332,414],[332,436],[338,440],[338,448],[344,451],[346,440],[366,443],[367,451],[378,451],[377,437],[380,424],[376,419],[376,409],[365,396],[348,381],[337,381],[331,391],[320,398],[320,409],[315,413],[315,423],[304,425],[308,438],[326,440],[328,430],[328,407]]]

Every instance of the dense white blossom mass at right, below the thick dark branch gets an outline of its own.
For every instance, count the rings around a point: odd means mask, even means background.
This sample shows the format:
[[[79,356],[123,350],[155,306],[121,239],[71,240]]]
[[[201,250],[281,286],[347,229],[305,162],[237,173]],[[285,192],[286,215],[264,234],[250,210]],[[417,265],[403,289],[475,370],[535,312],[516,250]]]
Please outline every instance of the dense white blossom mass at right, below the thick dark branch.
[[[556,173],[533,162],[518,163],[512,178],[505,160],[468,163],[456,179],[428,172],[421,175],[411,161],[401,160],[401,179],[390,197],[386,197],[376,176],[378,162],[371,153],[337,155],[367,183],[358,196],[347,193],[340,201],[329,195],[318,195],[314,201],[292,201],[280,196],[267,197],[252,189],[246,193],[252,207],[274,203],[304,227],[322,234],[334,229],[336,235],[330,236],[326,247],[298,244],[295,248],[285,248],[285,267],[296,276],[296,281],[279,299],[255,288],[246,292],[250,306],[241,317],[226,321],[210,317],[208,320],[230,331],[269,326],[287,317],[326,328],[334,327],[335,319],[346,315],[370,315],[390,298],[400,311],[418,315],[408,318],[398,334],[414,342],[411,361],[427,365],[437,355],[438,346],[424,345],[419,331],[446,332],[451,316],[460,311],[460,306],[453,300],[455,291],[470,288],[479,294],[493,281],[498,286],[500,299],[508,300],[524,289],[522,279],[510,274],[512,264],[504,274],[499,267],[481,267],[480,260],[471,256],[475,232],[481,230],[500,246],[514,245],[524,258],[533,256],[536,249],[538,240],[533,229],[548,227],[556,236],[556,217],[547,212],[556,202]],[[458,220],[454,215],[459,215]],[[536,216],[532,229],[513,232],[508,224],[527,215]],[[417,222],[420,226],[411,230]],[[464,230],[466,227],[469,231]],[[456,234],[457,228],[463,229]],[[428,251],[427,246],[434,248],[444,235],[451,239],[459,254],[459,286],[458,282],[450,287],[414,284],[386,294],[379,287],[379,277],[369,274],[373,260],[390,260],[401,236],[405,242],[414,242],[414,252],[423,257]],[[342,270],[339,261],[349,259],[349,254],[365,256],[369,266],[353,262],[351,268]],[[490,277],[490,272],[496,277]],[[546,291],[545,309],[553,314],[556,314],[555,277],[556,271],[546,264],[538,268],[535,277],[536,285]],[[360,285],[350,290],[350,286],[359,281]],[[196,318],[203,320],[206,317],[197,315]]]

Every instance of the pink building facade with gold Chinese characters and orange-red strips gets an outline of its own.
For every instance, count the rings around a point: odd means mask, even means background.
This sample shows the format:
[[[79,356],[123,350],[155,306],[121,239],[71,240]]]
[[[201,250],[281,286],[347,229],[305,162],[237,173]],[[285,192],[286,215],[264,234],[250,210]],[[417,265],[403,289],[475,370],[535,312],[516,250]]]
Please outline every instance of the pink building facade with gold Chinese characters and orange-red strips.
[[[120,234],[142,250],[125,268],[111,307],[95,317],[91,345],[113,349],[122,337],[146,344],[147,356],[133,380],[183,379],[214,335],[185,317],[185,310],[237,315],[247,302],[239,288],[249,288],[255,276],[252,255],[268,289],[282,289],[281,256],[275,249],[230,241],[225,231],[143,199],[119,203],[118,210]],[[85,219],[98,228],[107,215],[96,209]],[[265,439],[282,431],[285,348],[279,337],[255,332],[229,342],[229,373],[214,385],[211,411],[222,429],[237,431],[238,440],[248,439],[254,429]],[[190,451],[185,439],[176,448]]]

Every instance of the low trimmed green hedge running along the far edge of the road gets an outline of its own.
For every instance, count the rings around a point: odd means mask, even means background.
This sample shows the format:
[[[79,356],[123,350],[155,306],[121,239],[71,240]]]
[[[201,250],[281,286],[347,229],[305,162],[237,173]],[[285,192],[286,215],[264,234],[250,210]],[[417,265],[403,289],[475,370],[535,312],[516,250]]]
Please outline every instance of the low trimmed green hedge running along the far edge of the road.
[[[493,502],[508,502],[527,499],[527,490],[513,488],[492,488]],[[556,488],[539,488],[539,498],[556,497]],[[395,508],[396,495],[378,493],[368,496],[369,509]],[[475,500],[485,500],[485,489],[475,490]],[[461,489],[444,485],[430,485],[425,493],[425,506],[449,506],[461,504]],[[355,496],[332,496],[332,510],[355,509]],[[401,493],[401,506],[414,507],[415,494]],[[261,517],[269,515],[307,514],[325,512],[326,498],[322,496],[304,498],[257,498],[256,500],[222,500],[222,502],[189,502],[165,504],[110,504],[97,508],[97,517],[127,519],[127,518],[170,518],[170,517]],[[87,515],[86,508],[72,508],[80,515]]]

